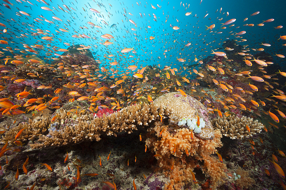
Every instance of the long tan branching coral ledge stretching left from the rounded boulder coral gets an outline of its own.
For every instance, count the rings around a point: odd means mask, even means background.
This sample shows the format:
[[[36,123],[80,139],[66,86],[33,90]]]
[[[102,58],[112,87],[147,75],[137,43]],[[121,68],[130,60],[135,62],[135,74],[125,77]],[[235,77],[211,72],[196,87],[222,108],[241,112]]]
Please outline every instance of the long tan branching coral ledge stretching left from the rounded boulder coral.
[[[13,138],[19,130],[25,129],[18,138],[20,141],[35,140],[38,138],[38,143],[30,144],[32,148],[42,148],[48,146],[62,146],[70,143],[80,143],[83,141],[100,141],[100,135],[114,135],[118,132],[128,132],[137,130],[138,125],[147,126],[155,120],[159,115],[164,115],[164,111],[157,108],[153,104],[132,105],[109,116],[93,117],[93,114],[87,112],[69,113],[64,109],[58,110],[53,128],[50,126],[51,117],[49,119],[31,120],[29,123],[23,122],[19,126],[9,130],[5,134],[5,140],[9,143],[13,142]],[[2,140],[2,142],[5,142]]]

